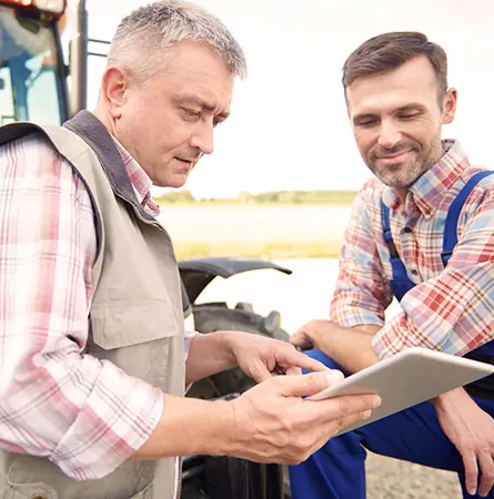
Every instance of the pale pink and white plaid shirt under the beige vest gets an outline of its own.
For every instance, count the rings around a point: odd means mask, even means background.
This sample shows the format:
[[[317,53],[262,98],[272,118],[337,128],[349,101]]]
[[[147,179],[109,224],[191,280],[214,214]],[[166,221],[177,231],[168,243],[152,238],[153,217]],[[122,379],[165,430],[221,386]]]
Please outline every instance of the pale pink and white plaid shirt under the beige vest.
[[[138,201],[158,215],[151,180],[117,145]],[[79,480],[104,477],[150,437],[163,394],[81,354],[93,210],[70,164],[39,135],[0,147],[0,447],[47,457]]]

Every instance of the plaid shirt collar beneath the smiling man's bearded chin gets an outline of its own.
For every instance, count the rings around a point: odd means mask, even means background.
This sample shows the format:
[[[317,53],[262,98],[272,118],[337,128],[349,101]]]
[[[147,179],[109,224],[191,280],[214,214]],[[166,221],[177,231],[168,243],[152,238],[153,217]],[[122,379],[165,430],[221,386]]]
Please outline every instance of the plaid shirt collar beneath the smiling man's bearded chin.
[[[442,141],[444,154],[410,187],[404,211],[411,213],[419,210],[430,218],[453,184],[470,166],[468,157],[457,140]],[[383,201],[392,210],[401,206],[400,198],[393,187],[384,187]]]

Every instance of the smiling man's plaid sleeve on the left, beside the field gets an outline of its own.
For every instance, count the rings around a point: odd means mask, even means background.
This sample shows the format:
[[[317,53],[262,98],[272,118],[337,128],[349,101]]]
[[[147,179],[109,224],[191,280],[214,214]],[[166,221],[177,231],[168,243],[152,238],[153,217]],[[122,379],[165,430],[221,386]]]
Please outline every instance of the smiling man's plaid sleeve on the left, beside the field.
[[[331,319],[345,327],[384,324],[393,296],[377,255],[367,212],[375,183],[367,182],[353,204],[340,253],[340,274],[331,302]]]

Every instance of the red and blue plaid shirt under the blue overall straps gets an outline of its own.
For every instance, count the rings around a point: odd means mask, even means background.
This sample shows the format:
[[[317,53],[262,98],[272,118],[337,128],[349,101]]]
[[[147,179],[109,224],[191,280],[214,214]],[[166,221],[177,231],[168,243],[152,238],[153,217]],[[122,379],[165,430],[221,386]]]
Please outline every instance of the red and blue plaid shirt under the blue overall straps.
[[[457,141],[411,187],[403,205],[376,179],[360,191],[340,256],[332,320],[347,327],[382,326],[373,338],[380,358],[421,346],[463,355],[493,339],[494,175],[480,182],[458,220],[458,244],[443,267],[443,227],[465,182],[485,169],[472,166]],[[402,312],[384,324],[392,301],[390,253],[381,222],[381,197],[390,207],[396,249],[416,284]],[[405,227],[409,227],[405,230]]]

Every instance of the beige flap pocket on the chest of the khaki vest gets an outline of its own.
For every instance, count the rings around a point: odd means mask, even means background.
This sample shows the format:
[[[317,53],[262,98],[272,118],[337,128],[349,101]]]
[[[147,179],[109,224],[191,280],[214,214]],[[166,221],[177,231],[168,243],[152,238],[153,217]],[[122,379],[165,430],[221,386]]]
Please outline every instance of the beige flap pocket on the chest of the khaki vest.
[[[93,342],[105,350],[177,336],[183,328],[171,305],[158,299],[107,302],[91,309],[91,326]]]

